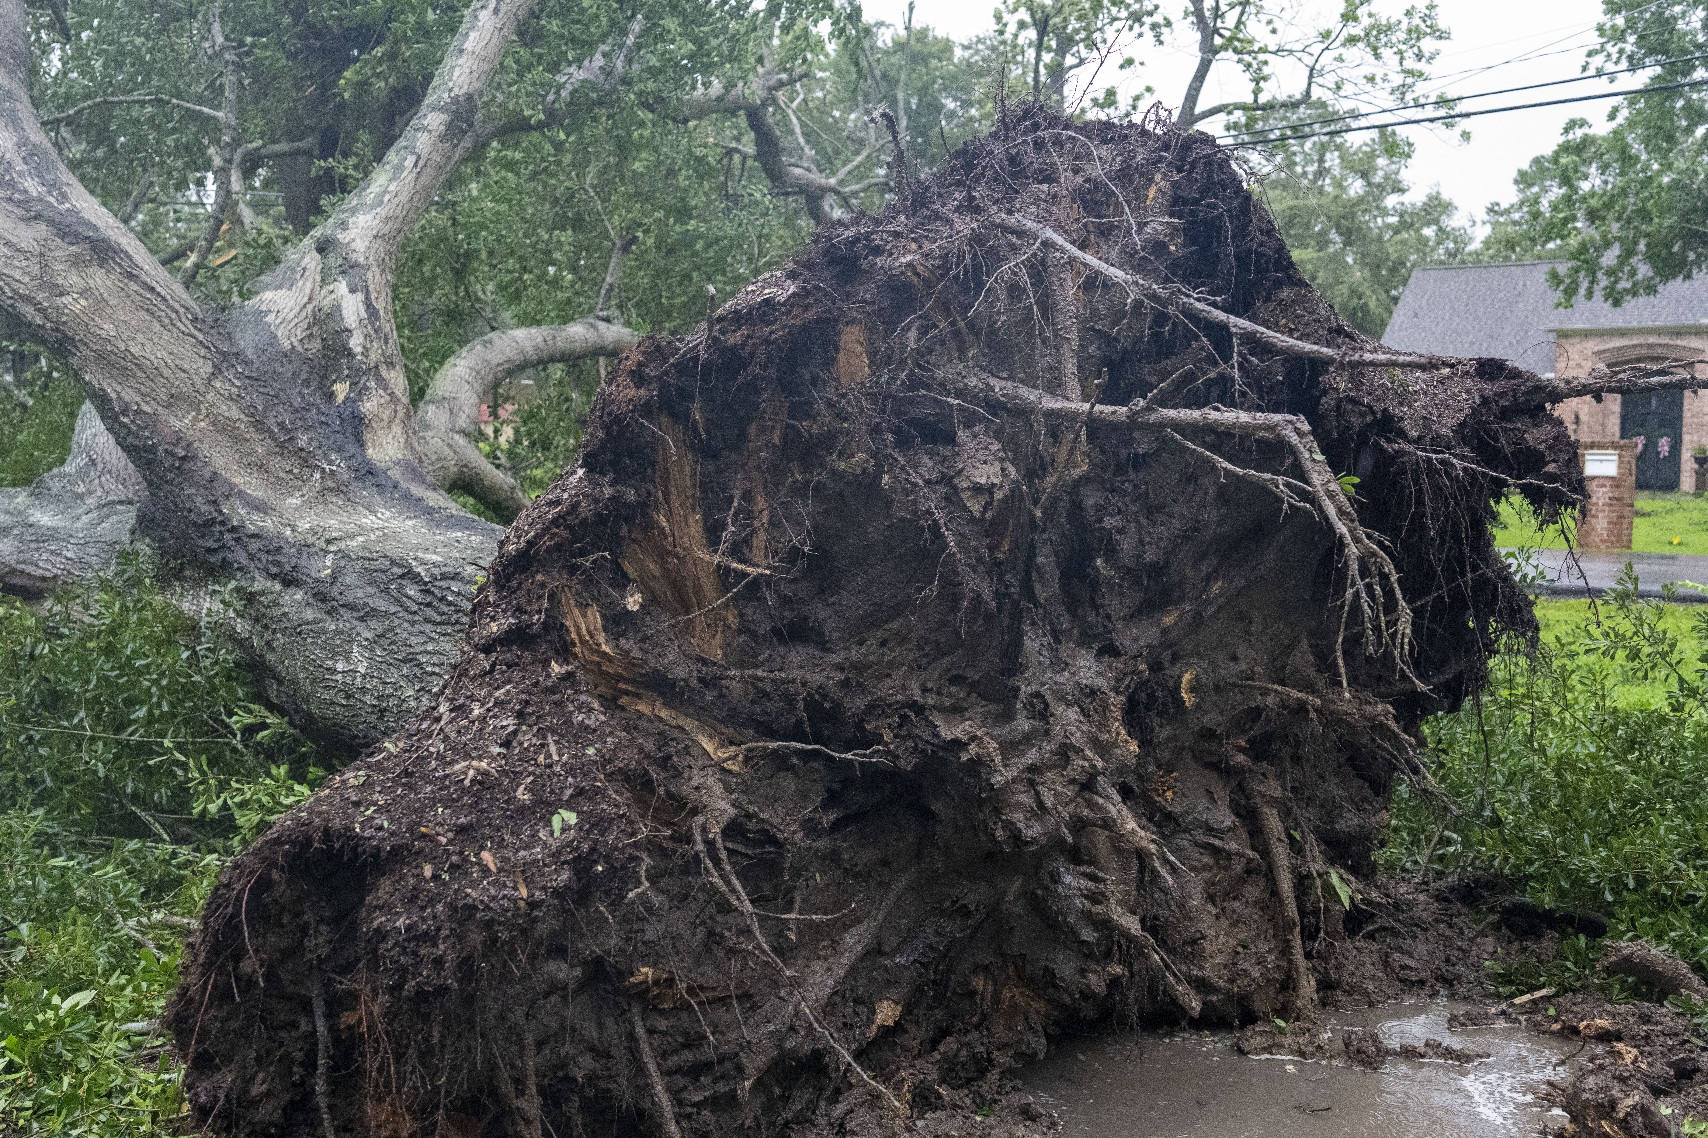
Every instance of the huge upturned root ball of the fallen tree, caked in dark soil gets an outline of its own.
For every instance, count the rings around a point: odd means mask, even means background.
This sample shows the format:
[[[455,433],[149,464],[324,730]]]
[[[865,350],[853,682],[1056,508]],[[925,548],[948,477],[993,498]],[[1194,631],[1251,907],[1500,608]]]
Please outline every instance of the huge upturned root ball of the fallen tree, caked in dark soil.
[[[196,1123],[917,1133],[1308,1013],[1322,877],[1534,635],[1491,502],[1582,493],[1534,375],[1382,355],[1213,140],[1037,109],[642,341],[439,701],[220,879]]]

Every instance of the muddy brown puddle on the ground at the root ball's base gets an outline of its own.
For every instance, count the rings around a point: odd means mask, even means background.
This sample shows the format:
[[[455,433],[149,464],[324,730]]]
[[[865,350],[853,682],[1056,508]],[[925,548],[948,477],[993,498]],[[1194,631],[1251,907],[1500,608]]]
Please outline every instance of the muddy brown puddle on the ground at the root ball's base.
[[[1325,1012],[1332,1060],[1247,1058],[1233,1032],[1136,1032],[1059,1039],[1023,1071],[1027,1090],[1062,1119],[1062,1135],[1097,1138],[1489,1138],[1565,1123],[1537,1102],[1590,1058],[1559,1063],[1576,1042],[1515,1025],[1447,1029],[1460,1002]],[[1341,1032],[1375,1027],[1390,1046],[1440,1039],[1488,1051],[1471,1066],[1389,1058],[1380,1071],[1346,1065]]]

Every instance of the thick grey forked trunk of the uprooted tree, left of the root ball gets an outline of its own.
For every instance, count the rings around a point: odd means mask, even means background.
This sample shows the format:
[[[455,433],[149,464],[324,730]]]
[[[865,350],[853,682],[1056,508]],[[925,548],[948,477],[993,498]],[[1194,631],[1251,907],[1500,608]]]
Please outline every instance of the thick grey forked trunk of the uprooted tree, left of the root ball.
[[[237,582],[268,693],[331,740],[371,740],[432,694],[495,548],[424,462],[391,268],[488,126],[482,94],[529,7],[471,5],[374,174],[253,300],[207,311],[60,162],[29,106],[24,7],[0,0],[0,305],[85,386],[147,486],[142,534]],[[10,507],[41,522],[63,474]],[[65,563],[102,561],[125,510],[91,514]]]

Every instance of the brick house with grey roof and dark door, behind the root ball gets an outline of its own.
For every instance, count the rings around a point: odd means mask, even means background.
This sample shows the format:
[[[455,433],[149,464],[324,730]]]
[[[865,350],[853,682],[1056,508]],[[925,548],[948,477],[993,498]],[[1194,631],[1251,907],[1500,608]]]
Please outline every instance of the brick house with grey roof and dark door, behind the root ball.
[[[1407,351],[1498,357],[1542,375],[1583,375],[1602,363],[1708,357],[1708,280],[1662,285],[1621,307],[1578,299],[1554,307],[1547,270],[1563,261],[1430,264],[1413,270],[1382,343]],[[1708,380],[1708,365],[1696,374]],[[1708,384],[1705,384],[1708,386]],[[1708,445],[1708,392],[1566,399],[1554,408],[1573,438],[1636,442],[1636,488],[1679,490],[1691,447]],[[1691,488],[1686,474],[1682,488]]]

